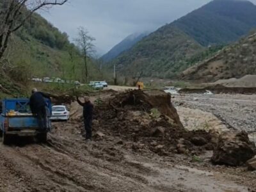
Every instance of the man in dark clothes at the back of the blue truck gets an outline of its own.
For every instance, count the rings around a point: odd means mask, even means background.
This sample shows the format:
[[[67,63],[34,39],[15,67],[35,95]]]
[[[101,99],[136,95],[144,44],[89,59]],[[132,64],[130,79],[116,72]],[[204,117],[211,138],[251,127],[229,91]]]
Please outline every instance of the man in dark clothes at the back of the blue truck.
[[[47,129],[47,105],[45,98],[50,99],[50,96],[46,93],[38,92],[36,88],[33,88],[32,95],[29,99],[29,106],[33,115],[37,115],[38,125],[40,129]]]

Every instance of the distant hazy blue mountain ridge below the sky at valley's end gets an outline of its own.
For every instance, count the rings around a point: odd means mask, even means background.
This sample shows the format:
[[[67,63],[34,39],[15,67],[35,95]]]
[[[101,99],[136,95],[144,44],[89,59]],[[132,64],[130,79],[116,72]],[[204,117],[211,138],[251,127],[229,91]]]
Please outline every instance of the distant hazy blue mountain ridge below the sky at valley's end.
[[[103,61],[111,61],[113,58],[116,58],[120,53],[127,51],[130,49],[134,44],[136,44],[138,41],[140,41],[144,36],[147,36],[149,32],[144,33],[134,33],[132,35],[127,36],[122,42],[115,45],[109,52],[104,54],[104,56],[101,57]]]

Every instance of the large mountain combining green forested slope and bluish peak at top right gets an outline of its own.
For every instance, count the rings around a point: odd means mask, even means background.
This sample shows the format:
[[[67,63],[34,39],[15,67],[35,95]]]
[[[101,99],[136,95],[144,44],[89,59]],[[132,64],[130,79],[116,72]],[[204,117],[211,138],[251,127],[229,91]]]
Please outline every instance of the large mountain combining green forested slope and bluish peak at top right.
[[[196,60],[204,60],[225,45],[256,28],[256,6],[249,1],[214,0],[188,15],[157,29],[109,66],[134,76],[176,77]],[[207,54],[205,54],[207,52]]]

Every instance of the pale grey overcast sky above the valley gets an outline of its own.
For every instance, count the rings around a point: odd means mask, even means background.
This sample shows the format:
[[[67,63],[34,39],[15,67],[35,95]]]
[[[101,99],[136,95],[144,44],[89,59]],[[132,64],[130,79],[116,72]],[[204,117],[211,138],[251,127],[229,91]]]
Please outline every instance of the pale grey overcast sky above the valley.
[[[96,38],[99,54],[108,52],[126,36],[154,31],[211,0],[69,0],[49,12],[40,12],[70,40],[83,26]],[[256,0],[253,0],[256,2]]]

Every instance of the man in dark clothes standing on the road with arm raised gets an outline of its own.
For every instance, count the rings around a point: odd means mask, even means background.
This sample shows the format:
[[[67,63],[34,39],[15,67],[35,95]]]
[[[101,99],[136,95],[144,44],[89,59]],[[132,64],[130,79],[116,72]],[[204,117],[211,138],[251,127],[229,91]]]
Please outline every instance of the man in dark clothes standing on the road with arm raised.
[[[86,140],[92,140],[92,112],[93,104],[89,97],[84,97],[84,102],[81,102],[77,97],[79,105],[83,106],[84,129],[86,131]]]

